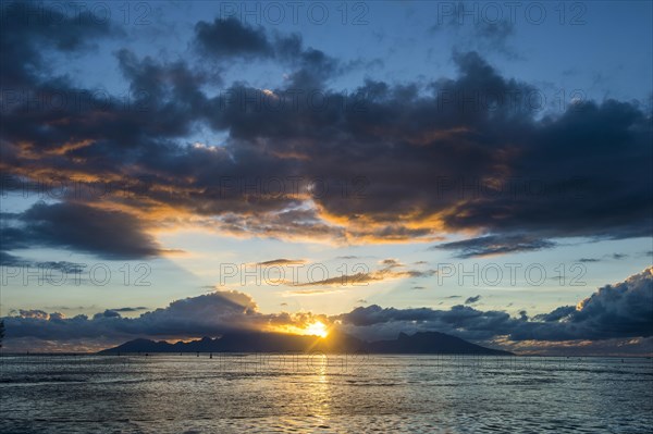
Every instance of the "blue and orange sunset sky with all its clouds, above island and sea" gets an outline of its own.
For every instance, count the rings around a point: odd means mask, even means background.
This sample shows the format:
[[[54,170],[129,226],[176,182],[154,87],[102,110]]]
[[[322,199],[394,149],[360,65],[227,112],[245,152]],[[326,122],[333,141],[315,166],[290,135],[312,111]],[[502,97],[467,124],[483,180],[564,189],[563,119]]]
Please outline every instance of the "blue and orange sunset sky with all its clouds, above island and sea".
[[[321,321],[653,352],[651,2],[1,20],[5,350]]]

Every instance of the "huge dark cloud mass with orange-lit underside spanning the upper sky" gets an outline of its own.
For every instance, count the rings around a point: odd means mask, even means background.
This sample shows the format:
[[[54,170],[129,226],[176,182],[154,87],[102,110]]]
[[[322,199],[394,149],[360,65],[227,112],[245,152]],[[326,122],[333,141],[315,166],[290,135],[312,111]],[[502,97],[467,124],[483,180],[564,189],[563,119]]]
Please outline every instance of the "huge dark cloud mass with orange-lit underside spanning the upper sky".
[[[64,40],[40,44],[49,29],[16,27],[8,37],[23,48],[2,51],[3,64],[19,65],[2,69],[3,83],[20,75],[30,92],[81,91],[73,77],[53,76],[38,59],[40,50],[83,49],[112,32],[83,29],[73,26],[62,30]],[[230,39],[232,33],[244,38]],[[146,243],[134,255],[157,251],[141,234],[146,224],[189,221],[238,236],[352,244],[477,234],[440,246],[461,257],[549,248],[564,237],[651,236],[652,126],[650,113],[634,103],[579,101],[545,114],[529,103],[537,88],[502,76],[476,52],[454,53],[454,78],[432,77],[427,86],[366,80],[342,94],[324,86],[341,71],[338,60],[304,47],[297,35],[227,21],[198,25],[195,37],[214,42],[219,65],[227,54],[257,54],[289,67],[288,78],[272,89],[230,83],[215,94],[210,85],[221,78],[193,59],[164,62],[118,50],[133,103],[94,95],[82,109],[34,110],[21,99],[3,104],[2,173],[65,174],[125,187],[146,177],[138,197],[86,203],[133,211],[101,224],[139,234]],[[200,128],[226,138],[188,144]],[[272,178],[300,181],[281,194],[243,188]],[[330,188],[316,194],[316,178]],[[72,201],[60,200],[64,208]],[[61,233],[77,237],[65,241],[44,223],[50,218],[42,213],[56,219],[60,209],[40,208],[48,243],[133,253],[108,237],[83,240],[59,221]]]

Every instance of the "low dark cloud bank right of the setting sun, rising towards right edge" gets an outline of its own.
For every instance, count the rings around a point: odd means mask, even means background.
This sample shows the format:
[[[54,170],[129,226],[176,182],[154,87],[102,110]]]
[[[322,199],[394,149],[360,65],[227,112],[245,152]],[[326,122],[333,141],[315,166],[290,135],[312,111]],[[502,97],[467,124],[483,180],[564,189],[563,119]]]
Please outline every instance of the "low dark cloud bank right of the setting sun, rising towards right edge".
[[[473,297],[476,298],[476,297]],[[653,335],[653,269],[605,285],[577,307],[564,306],[531,319],[500,311],[454,306],[451,310],[395,309],[373,305],[340,315],[345,330],[367,336],[396,336],[404,331],[434,330],[486,340],[575,340]]]

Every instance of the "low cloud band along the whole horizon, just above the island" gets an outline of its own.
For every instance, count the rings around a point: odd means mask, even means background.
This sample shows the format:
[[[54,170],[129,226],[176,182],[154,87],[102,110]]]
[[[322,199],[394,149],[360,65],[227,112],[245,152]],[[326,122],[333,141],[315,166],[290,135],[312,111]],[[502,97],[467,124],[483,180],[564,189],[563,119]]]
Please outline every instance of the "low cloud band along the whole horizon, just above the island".
[[[504,342],[522,348],[562,347],[564,342],[650,338],[653,336],[653,268],[599,288],[577,307],[562,306],[532,318],[525,311],[515,318],[506,312],[481,311],[463,305],[449,310],[371,305],[332,317],[310,312],[262,313],[251,297],[232,290],[176,300],[133,319],[122,318],[116,309],[99,312],[91,319],[21,310],[4,321],[9,348],[12,339],[75,340],[91,345],[98,337],[103,339],[101,342],[118,343],[134,337],[218,336],[243,330],[296,331],[317,319],[370,340],[417,331],[438,331],[476,342]]]

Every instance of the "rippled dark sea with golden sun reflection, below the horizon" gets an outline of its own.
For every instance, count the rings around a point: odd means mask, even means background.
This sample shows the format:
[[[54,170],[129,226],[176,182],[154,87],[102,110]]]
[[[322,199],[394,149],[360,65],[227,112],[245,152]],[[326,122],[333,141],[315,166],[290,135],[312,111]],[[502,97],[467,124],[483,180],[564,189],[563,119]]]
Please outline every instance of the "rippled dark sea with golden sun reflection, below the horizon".
[[[0,358],[2,433],[650,433],[650,359]]]

